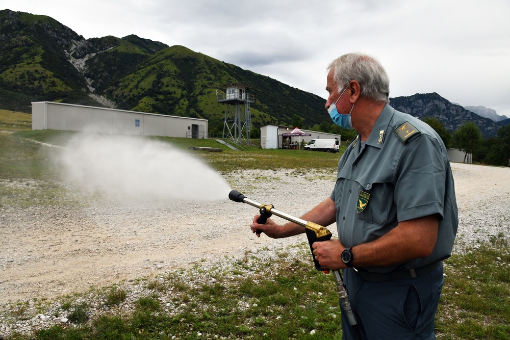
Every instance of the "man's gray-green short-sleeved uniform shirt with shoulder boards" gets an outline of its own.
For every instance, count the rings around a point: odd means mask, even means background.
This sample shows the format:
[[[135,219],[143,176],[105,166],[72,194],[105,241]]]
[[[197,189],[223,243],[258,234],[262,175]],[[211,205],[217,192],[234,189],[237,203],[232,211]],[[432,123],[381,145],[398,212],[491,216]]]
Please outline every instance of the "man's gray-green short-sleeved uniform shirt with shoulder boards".
[[[440,216],[438,240],[429,257],[366,268],[370,272],[418,268],[451,255],[458,218],[444,143],[430,126],[389,104],[366,143],[358,135],[347,147],[330,197],[337,208],[338,236],[346,247],[373,241],[402,221]]]

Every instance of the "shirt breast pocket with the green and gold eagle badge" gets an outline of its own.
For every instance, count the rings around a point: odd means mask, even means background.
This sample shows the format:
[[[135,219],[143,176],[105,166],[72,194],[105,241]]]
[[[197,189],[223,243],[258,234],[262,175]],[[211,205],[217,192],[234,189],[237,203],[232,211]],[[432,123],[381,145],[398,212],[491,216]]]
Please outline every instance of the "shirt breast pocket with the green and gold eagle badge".
[[[377,182],[371,185],[370,190],[361,191],[356,198],[358,218],[380,226],[387,224],[391,220],[392,212],[396,214],[393,191],[393,184]]]

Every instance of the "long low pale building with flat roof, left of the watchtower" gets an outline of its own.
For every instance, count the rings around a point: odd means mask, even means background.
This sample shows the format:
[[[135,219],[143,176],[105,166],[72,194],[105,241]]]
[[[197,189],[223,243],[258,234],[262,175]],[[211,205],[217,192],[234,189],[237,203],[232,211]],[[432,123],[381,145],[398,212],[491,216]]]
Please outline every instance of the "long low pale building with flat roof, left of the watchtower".
[[[32,129],[207,139],[208,120],[37,101]]]

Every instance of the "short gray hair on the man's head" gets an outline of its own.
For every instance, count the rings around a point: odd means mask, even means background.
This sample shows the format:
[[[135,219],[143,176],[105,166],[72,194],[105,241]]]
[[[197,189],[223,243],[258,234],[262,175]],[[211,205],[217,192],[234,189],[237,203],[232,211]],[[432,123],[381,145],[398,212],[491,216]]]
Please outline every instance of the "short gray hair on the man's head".
[[[339,93],[350,81],[355,80],[360,83],[362,97],[390,102],[390,79],[377,59],[360,53],[349,53],[332,61],[327,69],[333,67],[333,80],[338,84]]]

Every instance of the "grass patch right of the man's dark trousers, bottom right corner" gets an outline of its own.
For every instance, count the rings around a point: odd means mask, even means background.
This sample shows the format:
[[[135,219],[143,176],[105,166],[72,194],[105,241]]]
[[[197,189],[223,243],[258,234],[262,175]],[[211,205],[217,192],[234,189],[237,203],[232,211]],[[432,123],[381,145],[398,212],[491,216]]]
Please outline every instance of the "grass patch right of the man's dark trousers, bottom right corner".
[[[444,339],[510,339],[510,250],[499,236],[445,264],[438,310]]]

